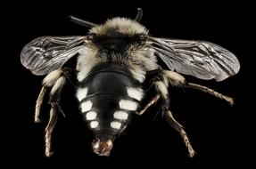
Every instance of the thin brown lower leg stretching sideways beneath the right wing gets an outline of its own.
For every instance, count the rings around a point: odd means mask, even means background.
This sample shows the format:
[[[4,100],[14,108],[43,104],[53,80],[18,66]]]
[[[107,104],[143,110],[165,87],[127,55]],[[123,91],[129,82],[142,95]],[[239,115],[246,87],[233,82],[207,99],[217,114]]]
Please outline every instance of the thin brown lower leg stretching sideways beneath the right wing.
[[[234,104],[234,100],[231,97],[228,97],[224,94],[218,93],[206,86],[200,85],[200,84],[193,84],[193,83],[187,83],[185,85],[186,87],[197,89],[199,91],[202,91],[204,93],[210,93],[211,95],[214,95],[215,97],[227,101],[231,106]]]

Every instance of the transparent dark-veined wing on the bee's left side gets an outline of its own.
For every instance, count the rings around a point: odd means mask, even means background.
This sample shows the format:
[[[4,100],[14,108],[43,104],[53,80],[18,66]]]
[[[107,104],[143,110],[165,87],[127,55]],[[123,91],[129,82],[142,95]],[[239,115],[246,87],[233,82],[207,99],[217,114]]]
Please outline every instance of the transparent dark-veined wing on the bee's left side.
[[[32,40],[21,51],[21,63],[35,75],[45,75],[70,60],[85,47],[87,36],[42,36]]]

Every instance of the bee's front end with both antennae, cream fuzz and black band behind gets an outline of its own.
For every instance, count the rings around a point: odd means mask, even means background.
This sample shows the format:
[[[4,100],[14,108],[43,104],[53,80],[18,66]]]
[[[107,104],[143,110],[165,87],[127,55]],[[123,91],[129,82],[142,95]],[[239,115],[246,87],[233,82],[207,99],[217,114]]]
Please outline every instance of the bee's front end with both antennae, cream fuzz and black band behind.
[[[122,51],[129,44],[143,44],[148,35],[148,30],[139,23],[142,14],[142,10],[138,8],[135,20],[117,17],[100,25],[75,17],[70,19],[90,28],[88,39],[93,44],[106,50]]]

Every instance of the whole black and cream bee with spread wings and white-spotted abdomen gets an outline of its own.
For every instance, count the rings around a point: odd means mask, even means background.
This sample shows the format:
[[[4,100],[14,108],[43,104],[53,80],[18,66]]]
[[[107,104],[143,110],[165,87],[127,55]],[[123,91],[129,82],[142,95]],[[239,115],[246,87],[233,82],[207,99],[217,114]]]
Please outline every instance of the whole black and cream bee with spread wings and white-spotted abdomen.
[[[95,134],[93,151],[106,157],[131,117],[143,115],[157,102],[169,125],[181,135],[189,157],[194,157],[184,127],[169,110],[170,87],[194,88],[233,104],[232,98],[187,82],[181,75],[222,81],[239,71],[239,61],[232,52],[210,42],[150,36],[139,23],[142,16],[140,8],[135,20],[117,17],[103,24],[71,16],[70,20],[89,28],[87,36],[41,36],[24,46],[22,65],[34,75],[46,75],[37,98],[35,122],[40,122],[40,108],[50,90],[46,157],[52,155],[52,133],[62,111],[61,93],[70,81],[76,87],[81,117]],[[76,68],[64,67],[72,57],[78,58]],[[153,91],[150,98],[149,91]]]

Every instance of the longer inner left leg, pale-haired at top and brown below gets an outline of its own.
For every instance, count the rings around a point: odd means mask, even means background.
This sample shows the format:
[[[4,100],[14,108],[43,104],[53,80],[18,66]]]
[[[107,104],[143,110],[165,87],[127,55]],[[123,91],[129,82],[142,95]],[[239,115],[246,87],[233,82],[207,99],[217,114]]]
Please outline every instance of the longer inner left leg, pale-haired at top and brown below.
[[[66,83],[66,80],[67,79],[65,76],[60,76],[58,80],[55,82],[50,92],[50,104],[52,108],[50,110],[50,118],[49,118],[48,125],[45,128],[45,156],[46,157],[50,157],[53,154],[51,152],[52,133],[58,119],[58,111],[61,111],[59,102],[61,98],[62,88]]]

